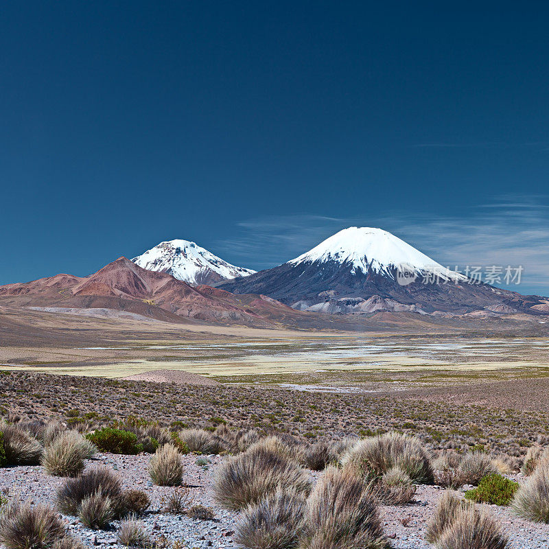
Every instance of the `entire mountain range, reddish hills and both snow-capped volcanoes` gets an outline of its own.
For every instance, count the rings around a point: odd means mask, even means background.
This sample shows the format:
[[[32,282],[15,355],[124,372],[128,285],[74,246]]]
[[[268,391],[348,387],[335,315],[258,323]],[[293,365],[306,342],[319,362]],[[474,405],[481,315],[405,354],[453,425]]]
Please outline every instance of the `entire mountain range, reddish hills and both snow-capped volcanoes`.
[[[395,235],[369,227],[344,229],[259,272],[233,266],[194,242],[161,242],[88,277],[57,274],[0,286],[0,305],[308,329],[360,329],[379,314],[393,315],[386,317],[390,322],[398,315],[433,322],[549,314],[549,299],[474,283]]]

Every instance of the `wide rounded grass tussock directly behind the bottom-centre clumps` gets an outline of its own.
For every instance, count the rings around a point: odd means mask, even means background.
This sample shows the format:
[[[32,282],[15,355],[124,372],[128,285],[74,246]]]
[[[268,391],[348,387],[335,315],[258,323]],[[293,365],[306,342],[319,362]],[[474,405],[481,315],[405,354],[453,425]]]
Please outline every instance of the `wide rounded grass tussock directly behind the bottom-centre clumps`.
[[[226,509],[242,509],[257,503],[278,488],[307,493],[307,471],[277,452],[250,447],[247,452],[227,460],[215,474],[215,499]]]

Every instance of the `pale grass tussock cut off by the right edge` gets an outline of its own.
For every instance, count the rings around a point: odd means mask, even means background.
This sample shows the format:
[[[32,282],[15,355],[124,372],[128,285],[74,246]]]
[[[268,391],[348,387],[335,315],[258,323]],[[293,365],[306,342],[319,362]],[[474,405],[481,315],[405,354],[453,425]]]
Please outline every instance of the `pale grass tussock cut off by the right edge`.
[[[519,486],[511,502],[513,511],[534,522],[549,523],[549,465],[539,465]]]

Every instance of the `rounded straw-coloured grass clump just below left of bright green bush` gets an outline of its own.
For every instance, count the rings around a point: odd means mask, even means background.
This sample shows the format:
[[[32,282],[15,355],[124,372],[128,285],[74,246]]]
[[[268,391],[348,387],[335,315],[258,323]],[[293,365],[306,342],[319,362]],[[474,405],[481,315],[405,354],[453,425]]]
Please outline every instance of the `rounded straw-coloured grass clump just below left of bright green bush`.
[[[45,447],[41,463],[50,475],[77,476],[84,470],[84,459],[95,451],[95,446],[80,433],[67,431]]]

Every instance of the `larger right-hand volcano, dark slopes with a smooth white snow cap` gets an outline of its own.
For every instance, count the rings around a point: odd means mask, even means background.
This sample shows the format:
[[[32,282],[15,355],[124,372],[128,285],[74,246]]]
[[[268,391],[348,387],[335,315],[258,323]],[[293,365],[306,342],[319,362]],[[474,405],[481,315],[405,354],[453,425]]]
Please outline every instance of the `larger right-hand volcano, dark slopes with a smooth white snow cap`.
[[[349,227],[285,264],[218,286],[236,294],[264,294],[294,309],[336,314],[466,314],[524,307],[518,294],[474,284],[371,227]]]

